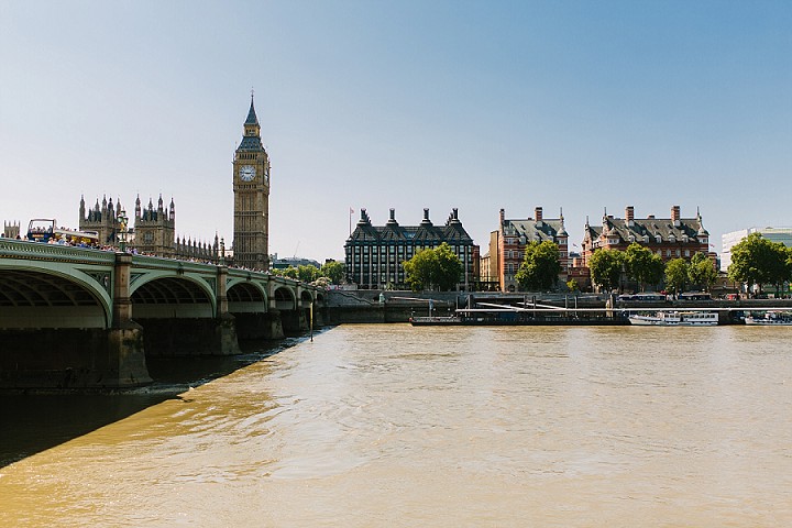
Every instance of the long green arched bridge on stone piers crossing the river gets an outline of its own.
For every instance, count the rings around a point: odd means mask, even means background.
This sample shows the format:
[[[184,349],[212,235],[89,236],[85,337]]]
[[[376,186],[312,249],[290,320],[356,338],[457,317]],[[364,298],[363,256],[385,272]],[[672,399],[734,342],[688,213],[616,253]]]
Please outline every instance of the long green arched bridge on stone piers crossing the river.
[[[0,387],[130,387],[148,356],[237,354],[321,323],[324,292],[267,273],[0,239]]]

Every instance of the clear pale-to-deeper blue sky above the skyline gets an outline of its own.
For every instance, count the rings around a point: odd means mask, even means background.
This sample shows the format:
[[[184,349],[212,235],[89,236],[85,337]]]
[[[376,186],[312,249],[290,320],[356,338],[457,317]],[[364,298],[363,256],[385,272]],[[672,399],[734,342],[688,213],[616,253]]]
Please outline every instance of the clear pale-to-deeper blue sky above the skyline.
[[[270,251],[343,258],[366,208],[792,226],[789,1],[0,2],[0,219],[76,228],[80,196],[162,194],[233,238],[251,89]],[[572,250],[575,250],[573,246]]]

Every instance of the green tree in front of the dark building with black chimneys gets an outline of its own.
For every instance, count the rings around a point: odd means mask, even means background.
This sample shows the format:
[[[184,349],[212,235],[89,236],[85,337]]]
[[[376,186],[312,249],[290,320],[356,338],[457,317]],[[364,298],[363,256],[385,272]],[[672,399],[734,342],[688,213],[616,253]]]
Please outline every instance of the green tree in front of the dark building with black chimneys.
[[[446,242],[437,249],[417,252],[402,263],[407,274],[405,280],[415,292],[421,289],[453,289],[462,276],[462,262]]]

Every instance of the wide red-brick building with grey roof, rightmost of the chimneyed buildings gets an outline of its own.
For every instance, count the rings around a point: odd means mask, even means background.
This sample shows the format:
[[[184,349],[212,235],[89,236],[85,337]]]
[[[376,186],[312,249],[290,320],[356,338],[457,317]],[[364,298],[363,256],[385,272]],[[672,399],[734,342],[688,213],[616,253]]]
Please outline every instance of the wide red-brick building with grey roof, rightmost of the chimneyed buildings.
[[[583,235],[583,265],[586,267],[591,256],[598,250],[625,251],[637,242],[660,255],[663,262],[672,258],[690,261],[696,253],[707,255],[713,265],[715,254],[710,251],[710,232],[704,228],[701,213],[694,218],[682,218],[680,206],[671,208],[670,218],[635,218],[635,208],[625,209],[625,218],[614,218],[605,213],[602,226],[591,226],[586,219]]]

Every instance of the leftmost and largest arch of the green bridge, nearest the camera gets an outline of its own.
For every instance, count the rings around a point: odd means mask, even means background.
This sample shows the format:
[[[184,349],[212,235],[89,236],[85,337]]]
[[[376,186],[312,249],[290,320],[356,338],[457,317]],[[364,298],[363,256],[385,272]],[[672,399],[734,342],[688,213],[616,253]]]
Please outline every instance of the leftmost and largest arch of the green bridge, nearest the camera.
[[[110,328],[109,271],[59,270],[56,263],[0,265],[2,328]]]

